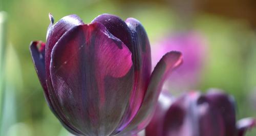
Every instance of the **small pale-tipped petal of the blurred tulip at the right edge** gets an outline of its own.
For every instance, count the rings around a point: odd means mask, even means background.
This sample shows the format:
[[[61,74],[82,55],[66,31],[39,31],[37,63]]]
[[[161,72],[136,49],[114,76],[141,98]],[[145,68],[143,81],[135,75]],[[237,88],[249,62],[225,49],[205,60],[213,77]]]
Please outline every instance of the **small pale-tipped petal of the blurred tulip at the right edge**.
[[[247,130],[256,127],[256,119],[245,118],[237,122],[238,136],[244,136]]]

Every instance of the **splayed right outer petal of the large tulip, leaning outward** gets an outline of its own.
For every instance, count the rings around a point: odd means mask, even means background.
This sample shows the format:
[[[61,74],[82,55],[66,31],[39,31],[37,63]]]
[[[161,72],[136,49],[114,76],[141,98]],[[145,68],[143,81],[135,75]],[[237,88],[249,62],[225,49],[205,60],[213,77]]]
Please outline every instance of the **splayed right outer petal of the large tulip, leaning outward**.
[[[151,75],[150,83],[147,87],[146,94],[138,114],[135,116],[129,126],[127,126],[122,131],[122,133],[127,133],[131,131],[132,133],[137,133],[138,131],[141,131],[143,128],[146,127],[146,125],[150,121],[148,117],[152,116],[151,113],[154,113],[153,111],[156,108],[158,96],[162,89],[164,80],[166,79],[166,77],[168,77],[170,72],[172,72],[181,63],[182,55],[180,52],[169,52],[162,57]],[[143,124],[141,125],[140,123],[144,120],[147,121],[143,122]]]

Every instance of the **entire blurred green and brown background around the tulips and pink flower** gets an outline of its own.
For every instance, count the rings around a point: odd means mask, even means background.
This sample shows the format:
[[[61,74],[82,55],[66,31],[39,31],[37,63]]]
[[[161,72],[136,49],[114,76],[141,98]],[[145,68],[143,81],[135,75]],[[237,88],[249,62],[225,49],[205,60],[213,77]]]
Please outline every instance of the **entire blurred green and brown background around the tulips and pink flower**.
[[[29,52],[32,40],[46,40],[49,12],[55,22],[69,14],[77,14],[86,23],[102,13],[137,18],[153,48],[160,48],[166,35],[199,33],[206,51],[197,82],[191,88],[181,84],[174,88],[168,85],[167,89],[178,95],[187,89],[206,92],[211,87],[222,88],[237,100],[237,119],[256,117],[254,0],[1,0],[1,10],[5,15],[0,16],[0,22],[4,16],[7,22],[0,34],[0,82],[4,80],[0,84],[0,135],[69,135],[45,102]],[[247,135],[256,135],[256,130]]]

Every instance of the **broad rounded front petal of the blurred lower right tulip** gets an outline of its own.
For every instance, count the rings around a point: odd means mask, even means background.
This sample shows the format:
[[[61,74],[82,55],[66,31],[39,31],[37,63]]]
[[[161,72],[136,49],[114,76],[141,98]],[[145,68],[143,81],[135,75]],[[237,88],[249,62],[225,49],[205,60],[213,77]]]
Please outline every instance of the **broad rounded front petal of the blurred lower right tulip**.
[[[160,135],[224,136],[223,126],[220,112],[207,98],[200,93],[190,92],[170,106]]]

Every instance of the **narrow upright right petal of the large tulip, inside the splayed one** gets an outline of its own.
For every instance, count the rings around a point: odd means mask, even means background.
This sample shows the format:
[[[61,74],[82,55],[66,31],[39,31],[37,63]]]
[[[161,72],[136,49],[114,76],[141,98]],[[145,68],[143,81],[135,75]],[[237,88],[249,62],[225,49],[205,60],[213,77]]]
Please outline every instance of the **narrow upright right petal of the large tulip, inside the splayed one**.
[[[130,98],[130,108],[127,108],[124,115],[125,118],[123,118],[124,121],[129,123],[137,114],[141,106],[148,82],[150,80],[151,49],[147,34],[140,22],[134,18],[128,18],[125,22],[132,32],[133,47],[135,48],[135,52],[133,52],[133,57],[135,58],[134,66],[137,66],[137,69],[135,69],[133,94]],[[115,133],[122,130],[127,125],[125,122],[122,124],[120,125],[120,128],[115,131]]]

